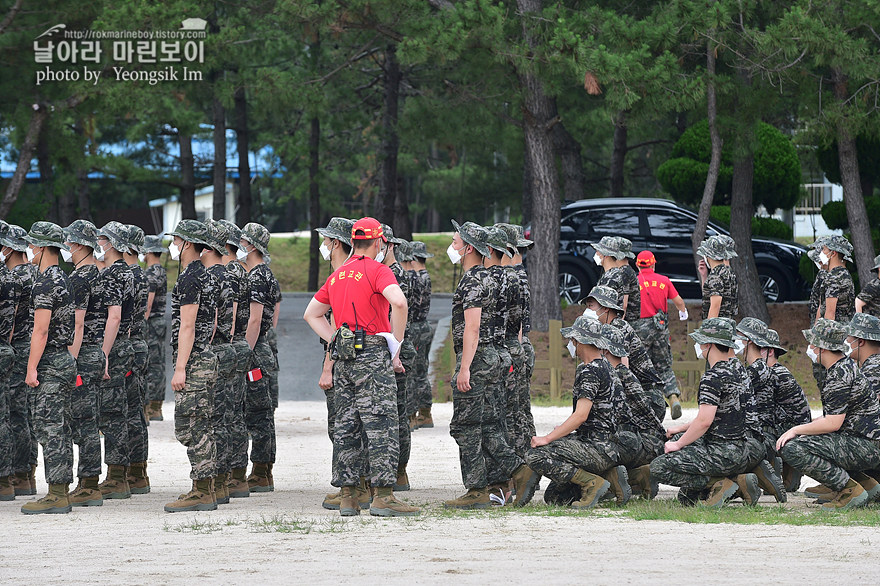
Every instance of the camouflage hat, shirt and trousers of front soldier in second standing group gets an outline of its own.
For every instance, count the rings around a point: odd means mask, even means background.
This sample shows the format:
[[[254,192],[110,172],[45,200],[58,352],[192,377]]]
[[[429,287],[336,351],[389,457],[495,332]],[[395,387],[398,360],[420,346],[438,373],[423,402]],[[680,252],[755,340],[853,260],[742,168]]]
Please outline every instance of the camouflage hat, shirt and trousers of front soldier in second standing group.
[[[184,224],[186,222],[186,224]],[[194,220],[182,220],[172,235],[195,238],[198,227]],[[183,225],[181,225],[183,224]],[[193,261],[177,278],[171,292],[172,363],[177,364],[180,335],[180,308],[198,305],[192,350],[186,363],[186,386],[174,392],[174,435],[186,446],[190,478],[202,480],[217,475],[217,446],[214,442],[212,417],[214,402],[211,387],[217,379],[217,356],[211,351],[214,330],[214,299],[217,283],[201,262]]]

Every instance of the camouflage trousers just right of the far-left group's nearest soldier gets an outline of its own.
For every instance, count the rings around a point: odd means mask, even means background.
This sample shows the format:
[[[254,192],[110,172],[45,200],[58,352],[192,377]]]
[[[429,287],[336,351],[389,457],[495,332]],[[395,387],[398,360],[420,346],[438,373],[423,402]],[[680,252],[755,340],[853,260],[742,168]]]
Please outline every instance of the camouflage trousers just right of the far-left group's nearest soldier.
[[[98,392],[104,377],[104,351],[97,344],[83,344],[76,358],[76,370],[82,384],[74,386],[70,396],[73,442],[79,448],[77,476],[101,475],[101,433],[98,431]]]

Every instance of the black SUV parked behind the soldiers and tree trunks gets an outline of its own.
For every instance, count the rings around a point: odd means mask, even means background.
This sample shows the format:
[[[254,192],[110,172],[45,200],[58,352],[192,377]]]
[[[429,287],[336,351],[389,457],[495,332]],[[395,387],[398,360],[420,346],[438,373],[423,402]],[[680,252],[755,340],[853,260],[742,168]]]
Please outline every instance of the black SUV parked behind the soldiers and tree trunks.
[[[675,284],[688,299],[701,296],[700,280],[694,268],[691,234],[697,214],[664,199],[584,199],[562,208],[559,239],[559,292],[574,303],[596,283],[602,269],[593,262],[591,242],[603,236],[632,240],[633,253],[650,250],[657,259],[657,272]],[[706,236],[728,234],[709,222]],[[755,264],[770,302],[805,299],[807,283],[798,273],[800,257],[807,249],[800,244],[772,238],[753,238]]]

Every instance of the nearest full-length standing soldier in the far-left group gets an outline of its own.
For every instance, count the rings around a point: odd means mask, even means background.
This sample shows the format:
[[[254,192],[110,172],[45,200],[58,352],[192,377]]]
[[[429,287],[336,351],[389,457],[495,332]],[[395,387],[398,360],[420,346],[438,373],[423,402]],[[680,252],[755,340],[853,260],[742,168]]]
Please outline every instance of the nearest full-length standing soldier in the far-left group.
[[[31,387],[30,412],[34,434],[43,447],[49,494],[26,503],[21,512],[69,513],[67,491],[73,482],[70,394],[76,361],[67,347],[73,343],[74,309],[70,282],[58,266],[59,251],[68,249],[64,231],[51,222],[34,223],[25,240],[30,244],[27,256],[40,270],[31,298],[34,326],[25,383]]]

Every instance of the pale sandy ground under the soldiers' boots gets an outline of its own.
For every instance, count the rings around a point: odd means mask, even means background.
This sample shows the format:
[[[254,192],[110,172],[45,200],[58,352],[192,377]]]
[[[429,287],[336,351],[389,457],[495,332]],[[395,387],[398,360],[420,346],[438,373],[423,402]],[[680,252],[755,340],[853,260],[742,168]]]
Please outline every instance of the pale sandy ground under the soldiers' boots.
[[[171,408],[166,404],[166,415]],[[539,433],[546,433],[568,410],[540,407],[534,412]],[[150,427],[151,494],[74,509],[69,515],[22,515],[19,507],[32,497],[0,503],[5,542],[0,579],[803,584],[846,575],[852,581],[880,580],[876,528],[688,525],[543,516],[535,510],[444,514],[439,503],[463,489],[449,437],[451,404],[436,405],[434,413],[436,427],[413,434],[413,490],[400,494],[426,505],[420,518],[363,513],[342,519],[321,508],[331,489],[330,441],[325,406],[318,402],[285,402],[277,412],[274,493],[234,499],[212,512],[166,514],[163,504],[190,484],[186,453],[168,418]],[[45,494],[42,468],[37,476],[38,492]],[[804,486],[811,484],[807,480]],[[662,490],[660,498],[673,494]],[[540,492],[535,500],[541,500]],[[802,498],[794,500],[792,506],[803,506]]]

